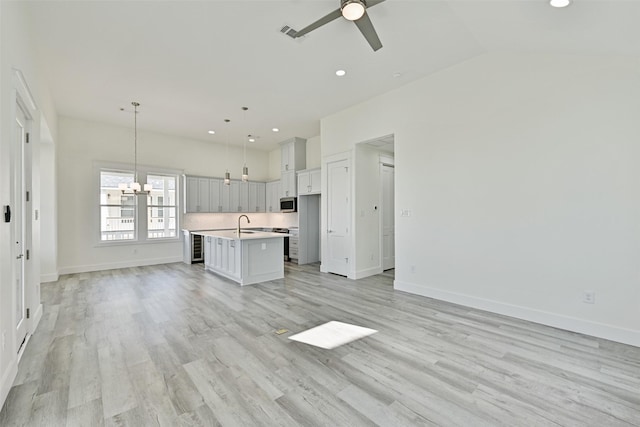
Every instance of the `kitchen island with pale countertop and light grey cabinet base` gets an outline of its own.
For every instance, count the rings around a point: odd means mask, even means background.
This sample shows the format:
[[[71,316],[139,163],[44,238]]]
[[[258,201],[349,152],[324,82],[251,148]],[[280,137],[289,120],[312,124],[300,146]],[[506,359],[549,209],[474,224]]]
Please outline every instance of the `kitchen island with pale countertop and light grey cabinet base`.
[[[204,240],[205,269],[241,286],[284,277],[286,234],[246,230],[194,232]]]

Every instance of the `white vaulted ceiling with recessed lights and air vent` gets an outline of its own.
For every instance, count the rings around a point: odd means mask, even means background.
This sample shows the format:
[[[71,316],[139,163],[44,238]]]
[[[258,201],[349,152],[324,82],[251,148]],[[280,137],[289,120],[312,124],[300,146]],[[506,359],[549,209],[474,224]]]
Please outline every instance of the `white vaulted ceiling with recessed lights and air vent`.
[[[387,0],[374,52],[338,0],[30,1],[33,43],[61,115],[270,150],[320,119],[486,53],[640,54],[640,1]],[[346,70],[344,77],[335,71]],[[249,110],[242,112],[241,107]],[[231,122],[227,125],[224,119]],[[278,127],[280,132],[272,132]],[[208,130],[215,130],[209,135]]]

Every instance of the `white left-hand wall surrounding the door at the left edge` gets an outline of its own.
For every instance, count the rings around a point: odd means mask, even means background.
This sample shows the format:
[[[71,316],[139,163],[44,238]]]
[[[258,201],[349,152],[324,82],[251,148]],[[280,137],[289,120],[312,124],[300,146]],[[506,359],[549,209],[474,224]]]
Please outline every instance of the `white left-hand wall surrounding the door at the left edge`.
[[[0,204],[11,204],[11,145],[15,140],[14,105],[16,99],[15,76],[20,70],[33,97],[36,109],[33,110],[31,124],[30,151],[34,159],[30,182],[31,202],[28,205],[27,219],[32,227],[33,242],[26,242],[32,257],[26,262],[25,292],[27,304],[32,316],[27,322],[28,333],[33,332],[41,315],[40,301],[40,220],[35,219],[34,210],[40,211],[39,218],[45,219],[51,212],[41,206],[42,176],[40,169],[40,129],[43,125],[51,130],[52,140],[56,138],[56,111],[44,84],[43,69],[36,61],[34,49],[29,38],[28,14],[24,2],[0,2]],[[17,372],[17,345],[15,337],[15,292],[12,286],[13,257],[11,244],[11,224],[0,222],[0,332],[4,335],[4,345],[0,346],[0,405],[13,383]]]

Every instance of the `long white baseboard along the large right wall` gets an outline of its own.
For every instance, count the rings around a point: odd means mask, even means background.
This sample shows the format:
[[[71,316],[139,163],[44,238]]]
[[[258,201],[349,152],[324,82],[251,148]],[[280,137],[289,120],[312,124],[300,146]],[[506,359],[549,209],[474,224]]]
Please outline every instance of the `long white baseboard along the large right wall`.
[[[618,326],[607,325],[604,323],[592,322],[590,320],[579,319],[562,314],[550,313],[533,308],[478,298],[471,295],[444,291],[442,289],[429,288],[426,286],[417,285],[415,283],[402,282],[399,280],[395,280],[393,282],[393,287],[398,291],[409,292],[424,297],[464,305],[466,307],[477,308],[480,310],[490,311],[492,313],[515,317],[517,319],[527,320],[529,322],[539,323],[541,325],[552,326],[554,328],[560,328],[567,331],[578,332],[593,337],[604,338],[607,340],[640,347],[640,330],[620,328]]]

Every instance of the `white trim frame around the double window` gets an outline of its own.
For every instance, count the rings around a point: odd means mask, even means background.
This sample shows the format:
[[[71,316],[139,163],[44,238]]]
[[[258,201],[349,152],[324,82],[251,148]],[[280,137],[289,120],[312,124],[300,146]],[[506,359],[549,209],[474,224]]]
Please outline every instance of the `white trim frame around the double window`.
[[[127,172],[133,173],[133,164],[131,163],[115,163],[115,162],[102,162],[102,161],[94,161],[93,162],[93,185],[92,185],[92,235],[95,247],[112,247],[112,246],[128,246],[128,245],[153,245],[158,243],[173,243],[180,241],[180,223],[182,222],[182,176],[184,175],[183,170],[179,169],[169,169],[169,168],[161,168],[156,166],[149,165],[138,165],[138,177],[144,177],[142,181],[146,182],[147,174],[150,175],[172,175],[176,178],[176,235],[175,237],[156,237],[156,238],[148,238],[146,234],[141,233],[141,221],[140,217],[144,216],[146,220],[147,216],[147,204],[146,201],[144,203],[144,209],[140,207],[136,207],[136,229],[135,229],[135,238],[133,240],[102,240],[101,239],[101,230],[100,230],[100,172],[104,170],[110,170],[114,172]],[[144,210],[144,215],[141,212]],[[144,231],[148,231],[146,228],[146,223],[144,227]],[[142,235],[144,234],[144,235]],[[148,233],[147,233],[148,234]]]

